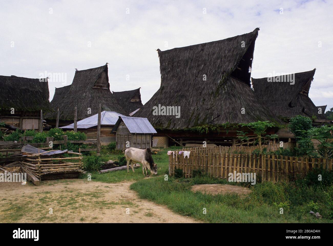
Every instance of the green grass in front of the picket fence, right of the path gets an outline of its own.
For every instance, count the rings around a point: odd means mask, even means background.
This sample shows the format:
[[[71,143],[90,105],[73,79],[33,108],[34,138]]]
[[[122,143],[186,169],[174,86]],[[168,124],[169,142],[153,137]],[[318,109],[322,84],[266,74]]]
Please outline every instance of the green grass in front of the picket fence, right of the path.
[[[214,180],[207,177],[178,180],[169,178],[168,181],[165,181],[163,177],[156,177],[140,180],[132,184],[131,189],[137,191],[142,199],[166,205],[176,213],[209,223],[333,222],[332,219],[329,219],[329,216],[332,216],[330,213],[332,213],[333,207],[327,207],[332,201],[332,186],[317,195],[315,193],[320,188],[292,188],[285,183],[272,184],[270,182],[251,187],[252,192],[246,197],[240,197],[235,193],[210,195],[190,190],[194,184],[223,182],[227,183],[225,180]],[[286,193],[288,189],[294,190]],[[311,199],[318,201],[317,210],[323,215],[323,219],[317,219],[308,213],[313,206]],[[284,209],[283,214],[280,214],[280,207]]]

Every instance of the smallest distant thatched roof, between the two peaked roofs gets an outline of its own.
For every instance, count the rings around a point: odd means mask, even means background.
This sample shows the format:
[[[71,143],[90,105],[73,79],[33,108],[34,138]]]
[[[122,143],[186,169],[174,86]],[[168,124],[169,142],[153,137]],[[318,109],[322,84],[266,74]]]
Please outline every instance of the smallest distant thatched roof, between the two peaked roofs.
[[[141,88],[141,87],[140,87]],[[142,108],[140,88],[131,91],[113,91],[113,95],[128,114]]]

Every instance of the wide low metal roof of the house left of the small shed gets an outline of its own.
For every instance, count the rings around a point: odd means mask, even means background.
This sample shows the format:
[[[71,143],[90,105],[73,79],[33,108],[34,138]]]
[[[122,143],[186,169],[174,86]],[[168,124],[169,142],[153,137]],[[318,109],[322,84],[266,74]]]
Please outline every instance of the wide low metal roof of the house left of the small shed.
[[[115,125],[117,120],[119,119],[119,116],[124,116],[124,115],[119,114],[114,111],[103,111],[103,112],[101,112],[101,125]],[[83,120],[79,120],[77,122],[78,129],[79,128],[87,129],[87,128],[90,128],[93,126],[97,126],[97,121],[98,121],[98,114],[92,115]],[[68,126],[63,126],[63,127],[59,127],[59,128],[74,129],[74,123],[70,124]]]

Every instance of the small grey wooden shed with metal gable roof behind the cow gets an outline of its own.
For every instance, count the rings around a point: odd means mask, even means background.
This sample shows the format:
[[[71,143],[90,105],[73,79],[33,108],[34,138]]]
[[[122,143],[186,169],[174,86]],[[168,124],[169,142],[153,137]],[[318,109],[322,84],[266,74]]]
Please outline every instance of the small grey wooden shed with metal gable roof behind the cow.
[[[157,133],[147,118],[119,116],[112,132],[116,132],[116,149],[152,147],[152,135]]]

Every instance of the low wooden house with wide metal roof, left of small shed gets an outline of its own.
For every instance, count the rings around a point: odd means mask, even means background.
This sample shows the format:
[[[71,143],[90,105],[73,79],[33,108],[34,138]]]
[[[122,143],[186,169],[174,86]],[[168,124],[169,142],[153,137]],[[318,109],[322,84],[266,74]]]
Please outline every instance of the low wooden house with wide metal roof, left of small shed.
[[[116,133],[112,132],[119,116],[125,116],[114,111],[101,112],[101,145],[108,145],[111,142],[116,142]],[[77,122],[79,132],[84,132],[87,139],[97,138],[98,114],[92,115],[86,119]],[[65,131],[73,131],[74,123],[68,126],[59,127]]]

